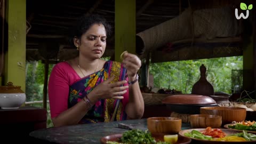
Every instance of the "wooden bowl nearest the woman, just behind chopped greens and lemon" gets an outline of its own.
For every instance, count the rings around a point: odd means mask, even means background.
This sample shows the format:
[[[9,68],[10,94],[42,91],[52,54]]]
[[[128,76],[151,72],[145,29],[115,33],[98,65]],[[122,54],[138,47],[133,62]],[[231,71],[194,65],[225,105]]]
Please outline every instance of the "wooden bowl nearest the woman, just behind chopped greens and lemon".
[[[178,117],[149,117],[147,126],[151,133],[177,134],[181,130],[181,119]]]

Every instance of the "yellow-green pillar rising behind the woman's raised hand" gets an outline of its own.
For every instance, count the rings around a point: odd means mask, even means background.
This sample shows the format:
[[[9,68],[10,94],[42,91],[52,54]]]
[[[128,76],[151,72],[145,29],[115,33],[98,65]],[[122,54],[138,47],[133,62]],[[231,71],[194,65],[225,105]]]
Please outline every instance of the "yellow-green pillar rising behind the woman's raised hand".
[[[135,54],[136,1],[115,0],[115,61],[123,51]]]

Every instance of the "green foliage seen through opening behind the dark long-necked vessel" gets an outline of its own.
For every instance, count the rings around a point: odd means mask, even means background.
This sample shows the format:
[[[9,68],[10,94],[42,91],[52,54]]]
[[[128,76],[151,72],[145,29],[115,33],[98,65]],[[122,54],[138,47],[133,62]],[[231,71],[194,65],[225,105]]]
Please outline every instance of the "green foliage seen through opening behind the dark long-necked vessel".
[[[191,93],[200,77],[199,67],[202,64],[214,91],[231,93],[231,70],[243,69],[243,57],[150,63],[149,71],[154,76],[154,87],[167,89],[170,85],[170,89]]]

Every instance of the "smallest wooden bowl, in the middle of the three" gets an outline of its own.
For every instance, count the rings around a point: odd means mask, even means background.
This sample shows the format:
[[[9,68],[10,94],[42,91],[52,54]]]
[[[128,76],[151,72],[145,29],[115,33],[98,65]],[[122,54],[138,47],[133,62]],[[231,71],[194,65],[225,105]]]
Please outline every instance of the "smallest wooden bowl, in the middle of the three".
[[[193,128],[220,128],[222,117],[218,115],[190,115],[190,125]]]

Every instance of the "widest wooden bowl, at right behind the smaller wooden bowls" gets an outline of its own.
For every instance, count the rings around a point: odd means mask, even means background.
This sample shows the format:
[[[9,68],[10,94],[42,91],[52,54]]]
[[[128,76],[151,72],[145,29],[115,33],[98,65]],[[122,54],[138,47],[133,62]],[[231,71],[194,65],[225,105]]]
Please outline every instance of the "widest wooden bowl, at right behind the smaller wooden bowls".
[[[222,116],[222,125],[245,120],[246,109],[238,107],[201,107],[200,114]]]

